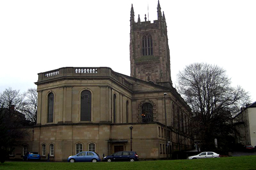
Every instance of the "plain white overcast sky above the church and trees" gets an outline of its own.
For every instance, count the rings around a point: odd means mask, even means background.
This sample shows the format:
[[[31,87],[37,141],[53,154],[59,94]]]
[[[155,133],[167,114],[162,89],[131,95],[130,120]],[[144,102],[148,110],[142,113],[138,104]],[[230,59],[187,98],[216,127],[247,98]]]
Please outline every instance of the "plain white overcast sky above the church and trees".
[[[130,9],[151,23],[158,0],[0,1],[0,92],[36,88],[38,73],[60,67],[110,67],[130,75]],[[256,100],[256,1],[160,0],[171,76],[193,62],[226,70]],[[147,10],[148,9],[148,10]]]

